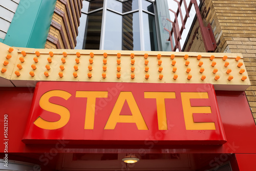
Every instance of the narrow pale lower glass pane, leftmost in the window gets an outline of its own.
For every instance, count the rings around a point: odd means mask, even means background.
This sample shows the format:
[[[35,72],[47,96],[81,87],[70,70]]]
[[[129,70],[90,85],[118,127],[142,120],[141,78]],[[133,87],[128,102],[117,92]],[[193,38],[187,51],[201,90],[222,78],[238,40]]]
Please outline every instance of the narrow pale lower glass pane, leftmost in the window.
[[[84,42],[84,33],[86,32],[87,14],[82,13],[80,17],[80,26],[78,27],[78,36],[76,37],[75,49],[82,49]]]

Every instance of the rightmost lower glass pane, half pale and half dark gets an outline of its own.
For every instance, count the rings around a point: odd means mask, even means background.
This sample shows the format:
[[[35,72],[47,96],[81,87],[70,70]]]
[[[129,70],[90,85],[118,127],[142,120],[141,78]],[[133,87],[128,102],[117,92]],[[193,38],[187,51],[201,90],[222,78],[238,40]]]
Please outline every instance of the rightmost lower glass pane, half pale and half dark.
[[[155,16],[143,12],[145,51],[157,51]]]

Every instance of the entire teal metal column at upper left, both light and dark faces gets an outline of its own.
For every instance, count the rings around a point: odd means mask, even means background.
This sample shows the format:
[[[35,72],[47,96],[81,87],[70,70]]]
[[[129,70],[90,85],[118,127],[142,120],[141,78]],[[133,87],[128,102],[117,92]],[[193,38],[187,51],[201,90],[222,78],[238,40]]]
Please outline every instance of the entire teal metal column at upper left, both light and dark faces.
[[[56,0],[20,0],[4,44],[44,48]]]

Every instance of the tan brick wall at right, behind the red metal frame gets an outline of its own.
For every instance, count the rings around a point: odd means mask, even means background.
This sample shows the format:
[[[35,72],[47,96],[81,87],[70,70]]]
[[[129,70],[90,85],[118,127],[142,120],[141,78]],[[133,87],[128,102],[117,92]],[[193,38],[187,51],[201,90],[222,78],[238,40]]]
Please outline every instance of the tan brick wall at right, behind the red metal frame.
[[[210,23],[218,48],[215,52],[242,53],[252,86],[245,91],[256,122],[256,0],[205,0],[201,16]],[[198,22],[185,51],[205,52]]]

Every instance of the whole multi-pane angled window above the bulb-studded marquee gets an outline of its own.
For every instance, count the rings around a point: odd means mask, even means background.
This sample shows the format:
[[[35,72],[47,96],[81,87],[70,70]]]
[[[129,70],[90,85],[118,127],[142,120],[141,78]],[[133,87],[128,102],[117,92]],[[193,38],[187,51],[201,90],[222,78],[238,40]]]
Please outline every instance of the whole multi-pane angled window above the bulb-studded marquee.
[[[157,51],[154,8],[146,0],[83,1],[75,49]]]

